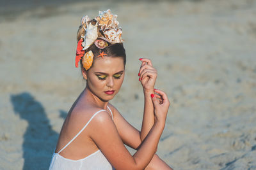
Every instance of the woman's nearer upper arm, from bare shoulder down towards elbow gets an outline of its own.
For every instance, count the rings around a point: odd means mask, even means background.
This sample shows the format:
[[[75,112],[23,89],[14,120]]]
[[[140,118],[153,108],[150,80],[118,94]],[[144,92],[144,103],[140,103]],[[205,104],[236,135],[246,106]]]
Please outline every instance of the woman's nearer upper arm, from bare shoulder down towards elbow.
[[[115,124],[106,111],[102,111],[92,120],[93,131],[90,137],[100,151],[116,169],[134,169],[134,159],[125,148]]]

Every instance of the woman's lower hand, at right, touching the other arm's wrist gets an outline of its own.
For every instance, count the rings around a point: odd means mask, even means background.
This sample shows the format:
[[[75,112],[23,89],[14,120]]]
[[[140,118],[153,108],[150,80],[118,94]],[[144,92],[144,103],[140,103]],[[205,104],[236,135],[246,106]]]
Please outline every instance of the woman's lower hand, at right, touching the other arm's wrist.
[[[154,92],[155,94],[151,94],[151,98],[154,104],[155,123],[165,124],[170,101],[163,91],[154,89]]]

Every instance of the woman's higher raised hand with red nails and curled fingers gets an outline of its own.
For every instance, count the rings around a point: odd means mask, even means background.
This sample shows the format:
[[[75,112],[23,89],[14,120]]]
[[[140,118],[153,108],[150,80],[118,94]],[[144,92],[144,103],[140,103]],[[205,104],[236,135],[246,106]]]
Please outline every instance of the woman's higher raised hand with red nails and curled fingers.
[[[141,81],[143,90],[152,92],[156,83],[157,70],[153,67],[150,59],[142,58],[140,60],[142,63],[139,71],[139,81]]]

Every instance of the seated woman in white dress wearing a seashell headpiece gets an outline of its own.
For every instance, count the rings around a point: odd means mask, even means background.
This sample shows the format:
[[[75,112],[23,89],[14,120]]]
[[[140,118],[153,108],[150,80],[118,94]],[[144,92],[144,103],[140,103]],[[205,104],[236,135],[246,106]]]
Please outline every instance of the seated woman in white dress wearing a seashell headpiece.
[[[107,10],[93,20],[81,20],[76,67],[80,61],[86,87],[67,115],[49,169],[171,169],[155,154],[170,102],[154,89],[157,71],[149,59],[140,59],[138,73],[145,96],[141,131],[109,103],[125,74],[116,17]],[[132,156],[124,144],[137,152]]]

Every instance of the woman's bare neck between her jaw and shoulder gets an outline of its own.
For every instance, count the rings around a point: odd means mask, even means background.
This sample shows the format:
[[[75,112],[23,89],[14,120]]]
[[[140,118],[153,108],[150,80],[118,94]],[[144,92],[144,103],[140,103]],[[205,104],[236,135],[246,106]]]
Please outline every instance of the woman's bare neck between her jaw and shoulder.
[[[103,101],[99,97],[97,97],[93,92],[90,90],[90,88],[85,87],[83,91],[83,97],[88,103],[92,103],[95,106],[98,106],[99,108],[102,108],[104,110],[107,109],[108,101]]]

